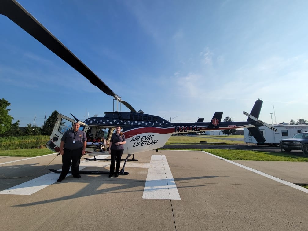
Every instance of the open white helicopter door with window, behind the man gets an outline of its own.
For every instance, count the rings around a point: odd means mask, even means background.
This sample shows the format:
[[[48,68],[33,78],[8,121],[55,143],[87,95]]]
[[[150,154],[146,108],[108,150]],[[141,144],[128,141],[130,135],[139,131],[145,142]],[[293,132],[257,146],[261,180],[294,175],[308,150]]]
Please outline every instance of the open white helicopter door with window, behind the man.
[[[55,144],[55,146],[60,147],[62,136],[66,131],[73,129],[74,123],[75,123],[74,119],[59,114],[56,120],[55,127],[50,136],[51,142]],[[78,123],[80,124],[79,130],[87,132],[88,125],[81,121],[78,121]]]

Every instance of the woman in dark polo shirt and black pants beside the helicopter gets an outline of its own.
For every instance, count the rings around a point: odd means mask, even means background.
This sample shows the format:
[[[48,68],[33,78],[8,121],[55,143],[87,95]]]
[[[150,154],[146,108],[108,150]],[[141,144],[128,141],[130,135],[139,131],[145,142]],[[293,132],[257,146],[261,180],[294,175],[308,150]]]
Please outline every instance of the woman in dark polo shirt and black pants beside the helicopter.
[[[119,176],[121,157],[124,151],[123,144],[126,144],[125,136],[121,132],[121,127],[116,127],[116,132],[112,134],[109,143],[109,154],[111,156],[111,164],[109,170],[109,177],[111,177],[115,170],[115,177]],[[116,160],[116,165],[115,165]]]

